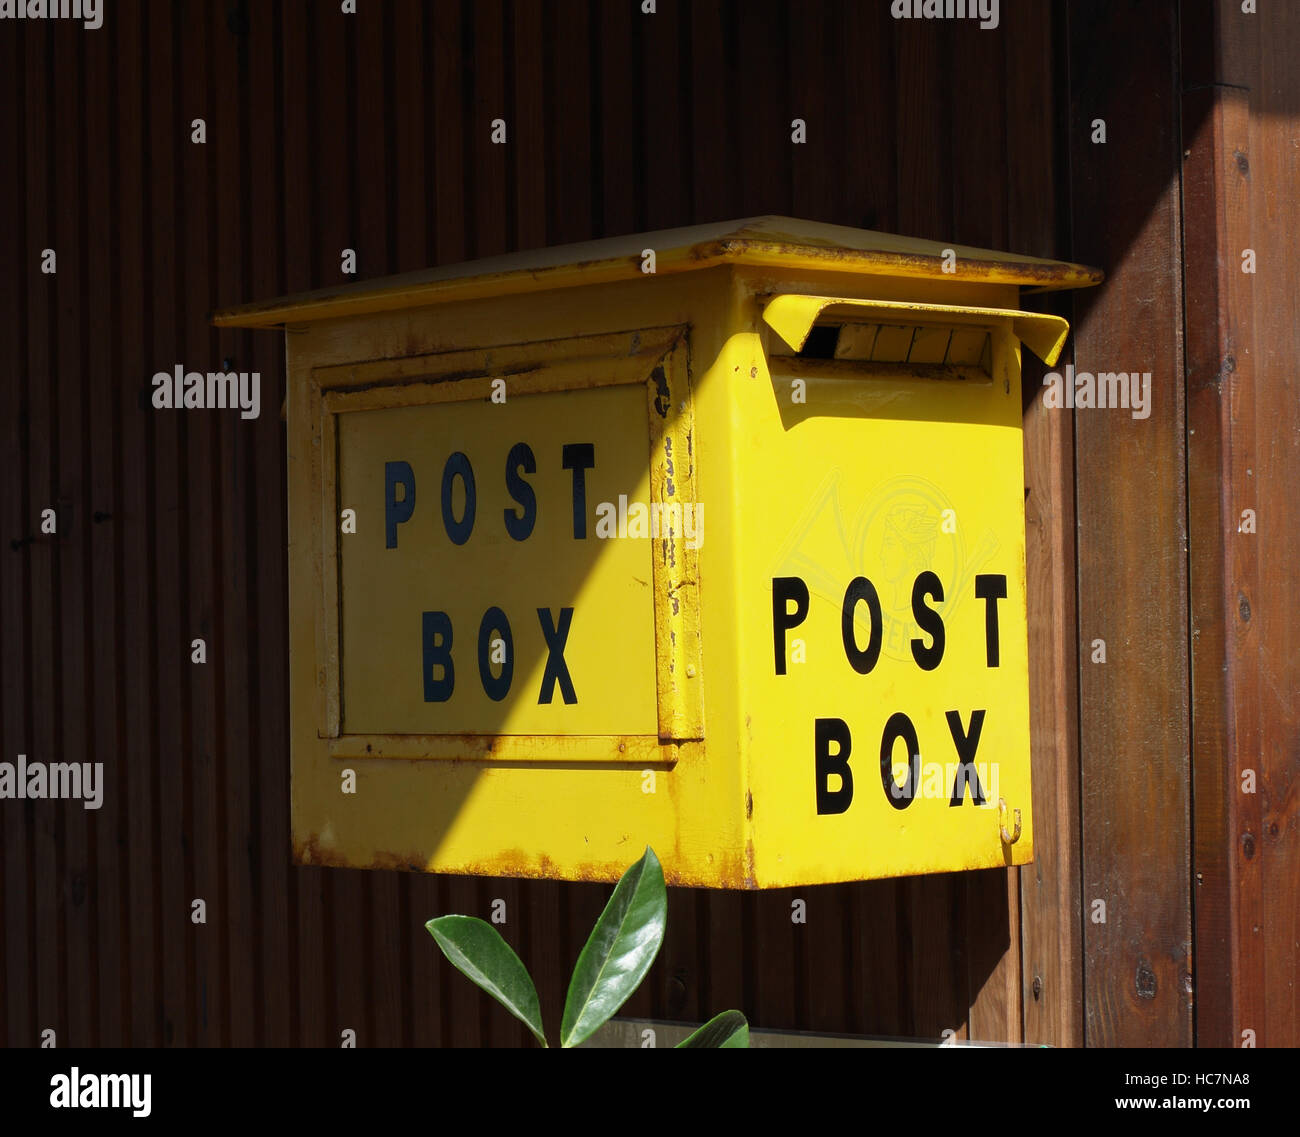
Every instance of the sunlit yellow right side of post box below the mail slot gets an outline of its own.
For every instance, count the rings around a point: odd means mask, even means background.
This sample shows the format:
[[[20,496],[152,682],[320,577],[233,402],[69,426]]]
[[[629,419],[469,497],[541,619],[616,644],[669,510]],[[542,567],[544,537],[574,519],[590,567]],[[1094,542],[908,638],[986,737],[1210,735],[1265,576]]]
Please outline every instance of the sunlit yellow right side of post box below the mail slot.
[[[1026,863],[1019,344],[993,335],[983,382],[838,360],[819,377],[816,360],[764,355],[755,292],[824,287],[741,285],[757,368],[737,399],[736,535],[757,884]]]

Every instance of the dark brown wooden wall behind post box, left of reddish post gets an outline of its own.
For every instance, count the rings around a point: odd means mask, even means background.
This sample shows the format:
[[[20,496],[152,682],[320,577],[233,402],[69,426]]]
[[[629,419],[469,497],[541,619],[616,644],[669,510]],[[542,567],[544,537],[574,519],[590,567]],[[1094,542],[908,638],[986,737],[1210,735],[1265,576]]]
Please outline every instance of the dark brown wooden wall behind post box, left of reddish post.
[[[1037,0],[1002,0],[996,31],[893,21],[885,0],[359,6],[118,0],[98,31],[0,27],[0,756],[108,777],[94,812],[0,803],[0,1041],[337,1046],[351,1028],[367,1046],[517,1045],[422,928],[498,897],[558,1021],[607,886],[290,864],[283,351],[207,317],[338,283],[344,248],[377,277],[784,213],[1098,264],[1119,277],[1100,300],[1044,303],[1080,321],[1076,353],[1124,368],[1144,343],[1170,386],[1140,434],[1026,409],[1036,864],[675,891],[627,1011],[1190,1042],[1173,4],[1136,32]],[[1118,135],[1100,169],[1095,104]],[[507,146],[490,143],[497,117]],[[260,418],[151,408],[156,370],[226,359],[261,372]],[[1144,476],[1145,529],[1128,512]],[[1108,591],[1144,568],[1167,607]],[[1089,671],[1095,634],[1154,647]],[[1158,812],[1108,793],[1143,771]],[[1118,903],[1112,938],[1092,936],[1088,899],[1138,888],[1149,906]]]

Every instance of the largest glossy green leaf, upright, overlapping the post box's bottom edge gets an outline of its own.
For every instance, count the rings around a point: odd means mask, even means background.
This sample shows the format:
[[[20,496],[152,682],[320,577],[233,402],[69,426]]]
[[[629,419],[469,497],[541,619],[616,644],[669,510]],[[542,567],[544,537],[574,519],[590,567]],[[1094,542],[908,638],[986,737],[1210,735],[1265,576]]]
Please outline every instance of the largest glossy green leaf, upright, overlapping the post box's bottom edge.
[[[668,890],[654,850],[646,846],[614,889],[577,958],[564,999],[560,1046],[578,1046],[599,1029],[650,971],[663,946]]]

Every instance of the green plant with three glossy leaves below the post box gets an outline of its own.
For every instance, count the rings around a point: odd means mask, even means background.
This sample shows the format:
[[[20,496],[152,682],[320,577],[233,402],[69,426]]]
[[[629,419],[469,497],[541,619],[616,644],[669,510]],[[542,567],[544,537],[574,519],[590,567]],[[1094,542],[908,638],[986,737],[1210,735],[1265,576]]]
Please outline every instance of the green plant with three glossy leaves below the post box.
[[[654,850],[633,864],[614,889],[582,947],[569,978],[560,1023],[560,1046],[590,1038],[641,985],[668,924],[668,890]],[[424,925],[452,967],[473,980],[533,1037],[546,1046],[537,988],[523,960],[500,933],[477,916],[438,916]],[[740,1011],[710,1019],[677,1049],[749,1046],[749,1023]]]

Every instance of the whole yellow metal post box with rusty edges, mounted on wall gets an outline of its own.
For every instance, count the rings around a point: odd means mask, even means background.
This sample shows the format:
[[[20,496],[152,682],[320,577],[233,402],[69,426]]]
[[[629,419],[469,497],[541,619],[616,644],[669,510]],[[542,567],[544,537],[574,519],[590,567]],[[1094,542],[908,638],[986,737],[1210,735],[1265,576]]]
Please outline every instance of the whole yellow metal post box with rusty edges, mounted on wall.
[[[1098,279],[763,217],[218,313],[289,333],[298,860],[1031,860],[1018,296]]]

